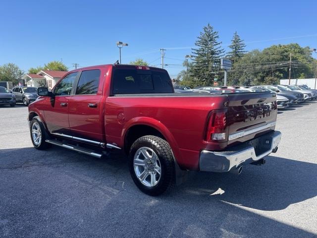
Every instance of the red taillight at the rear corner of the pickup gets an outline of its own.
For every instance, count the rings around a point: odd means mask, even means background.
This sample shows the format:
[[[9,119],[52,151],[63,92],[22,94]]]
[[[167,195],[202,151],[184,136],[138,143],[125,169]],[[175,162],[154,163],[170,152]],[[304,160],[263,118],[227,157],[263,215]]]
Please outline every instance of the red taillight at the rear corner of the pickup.
[[[227,109],[215,110],[209,114],[206,141],[222,141],[227,138]]]

